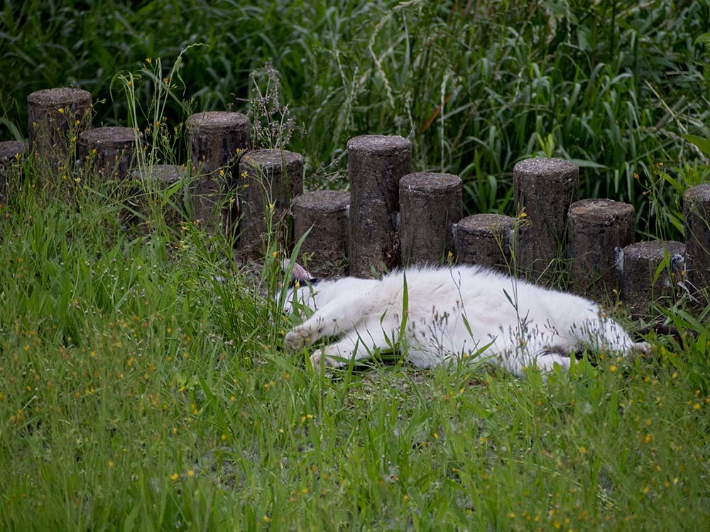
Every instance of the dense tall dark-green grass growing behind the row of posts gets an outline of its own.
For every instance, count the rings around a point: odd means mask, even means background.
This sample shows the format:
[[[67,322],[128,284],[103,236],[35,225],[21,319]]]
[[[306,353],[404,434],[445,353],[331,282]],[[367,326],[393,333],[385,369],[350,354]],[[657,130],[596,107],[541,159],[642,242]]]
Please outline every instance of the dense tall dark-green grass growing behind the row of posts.
[[[471,212],[512,214],[510,172],[545,154],[585,167],[581,197],[633,202],[640,231],[677,237],[677,189],[699,182],[708,136],[707,0],[6,2],[0,13],[5,135],[23,135],[36,89],[88,89],[97,122],[125,123],[116,72],[146,58],[180,68],[192,109],[246,111],[250,77],[270,61],[280,103],[307,133],[313,186],[343,187],[329,165],[359,133],[411,135],[415,169],[466,183]],[[148,94],[143,94],[148,96]],[[184,118],[181,106],[170,121]],[[658,164],[665,165],[662,171]],[[638,175],[638,180],[634,179]],[[648,189],[660,189],[655,203]]]

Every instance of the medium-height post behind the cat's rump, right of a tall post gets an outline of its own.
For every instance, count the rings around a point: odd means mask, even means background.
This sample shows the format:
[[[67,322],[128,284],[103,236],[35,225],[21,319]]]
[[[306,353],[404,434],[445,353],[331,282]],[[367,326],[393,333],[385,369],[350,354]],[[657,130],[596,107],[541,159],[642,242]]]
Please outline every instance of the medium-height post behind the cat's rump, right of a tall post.
[[[621,289],[621,250],[633,244],[633,205],[582,199],[569,207],[567,255],[572,292],[605,299]]]

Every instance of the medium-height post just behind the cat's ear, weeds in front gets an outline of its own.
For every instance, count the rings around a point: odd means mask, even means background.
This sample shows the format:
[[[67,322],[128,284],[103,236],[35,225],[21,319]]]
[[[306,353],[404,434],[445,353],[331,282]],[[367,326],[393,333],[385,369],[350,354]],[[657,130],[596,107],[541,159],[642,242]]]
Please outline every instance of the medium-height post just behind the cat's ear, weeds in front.
[[[239,255],[262,258],[270,235],[288,248],[293,242],[289,209],[303,194],[303,157],[286,150],[254,150],[241,158],[239,172]]]

